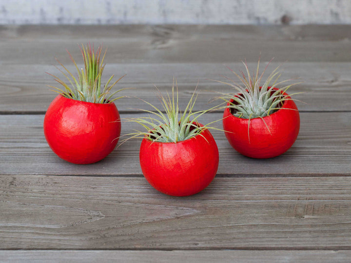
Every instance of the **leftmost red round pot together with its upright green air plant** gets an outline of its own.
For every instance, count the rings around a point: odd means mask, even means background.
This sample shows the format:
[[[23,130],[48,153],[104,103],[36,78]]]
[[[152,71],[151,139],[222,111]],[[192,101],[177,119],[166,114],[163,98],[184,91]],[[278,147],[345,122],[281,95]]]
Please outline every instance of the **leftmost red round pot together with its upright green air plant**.
[[[121,79],[110,86],[101,87],[101,74],[105,67],[100,61],[101,46],[94,53],[94,47],[88,44],[81,48],[84,70],[78,69],[78,78],[71,74],[58,60],[66,72],[59,71],[68,79],[65,84],[57,76],[65,90],[56,87],[59,95],[51,102],[44,118],[44,135],[50,148],[63,160],[74,164],[91,164],[105,158],[117,145],[120,136],[121,123],[117,107],[110,94],[111,88]],[[70,78],[70,77],[71,78]]]

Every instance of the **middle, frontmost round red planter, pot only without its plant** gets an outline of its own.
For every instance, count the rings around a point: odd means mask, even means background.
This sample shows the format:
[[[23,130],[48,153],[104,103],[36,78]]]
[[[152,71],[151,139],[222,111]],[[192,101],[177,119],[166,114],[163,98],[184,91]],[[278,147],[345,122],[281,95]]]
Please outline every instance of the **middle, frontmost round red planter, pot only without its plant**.
[[[211,132],[201,134],[203,137],[197,134],[176,143],[144,138],[139,157],[146,180],[158,191],[173,196],[188,196],[206,188],[215,177],[219,158]]]

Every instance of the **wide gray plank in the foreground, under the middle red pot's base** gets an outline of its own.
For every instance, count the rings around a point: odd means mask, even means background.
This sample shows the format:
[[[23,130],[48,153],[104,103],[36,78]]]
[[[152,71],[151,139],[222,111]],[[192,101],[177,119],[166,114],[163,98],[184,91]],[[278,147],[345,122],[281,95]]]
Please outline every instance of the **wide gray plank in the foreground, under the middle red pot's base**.
[[[215,178],[191,197],[144,178],[0,176],[1,249],[351,249],[351,178]]]

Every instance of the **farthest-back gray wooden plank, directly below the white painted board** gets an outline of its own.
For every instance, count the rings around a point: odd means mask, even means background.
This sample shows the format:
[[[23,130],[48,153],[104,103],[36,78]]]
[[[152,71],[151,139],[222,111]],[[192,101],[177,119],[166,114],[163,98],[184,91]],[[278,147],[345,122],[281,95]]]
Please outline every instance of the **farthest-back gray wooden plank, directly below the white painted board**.
[[[108,62],[351,60],[351,25],[21,25],[1,26],[3,64],[50,64],[88,41],[109,47]],[[30,52],[28,52],[30,50]],[[16,56],[13,56],[16,54]],[[65,56],[62,62],[68,62]]]

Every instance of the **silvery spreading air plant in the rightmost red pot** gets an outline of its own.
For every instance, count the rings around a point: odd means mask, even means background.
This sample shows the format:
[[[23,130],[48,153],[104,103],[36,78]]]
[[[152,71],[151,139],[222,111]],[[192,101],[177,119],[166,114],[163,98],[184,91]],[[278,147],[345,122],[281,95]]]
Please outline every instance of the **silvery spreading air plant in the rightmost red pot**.
[[[271,61],[273,58],[271,59]],[[243,71],[239,71],[241,75],[236,74],[232,69],[234,75],[236,75],[243,85],[238,84],[229,77],[226,77],[232,83],[215,80],[217,82],[229,85],[233,87],[237,93],[227,93],[221,94],[218,98],[230,102],[230,105],[227,106],[232,109],[232,113],[235,117],[244,118],[244,119],[253,119],[253,118],[263,118],[269,116],[270,114],[278,111],[283,105],[284,101],[292,100],[290,94],[287,95],[285,92],[292,86],[299,83],[293,83],[286,85],[282,88],[277,88],[278,85],[290,81],[291,79],[283,80],[278,82],[280,77],[280,72],[278,71],[279,67],[276,67],[273,72],[268,76],[267,80],[261,85],[261,80],[266,72],[269,64],[265,67],[263,73],[259,75],[259,63],[260,58],[258,59],[257,69],[253,75],[250,75],[248,65],[243,62],[247,76]]]

